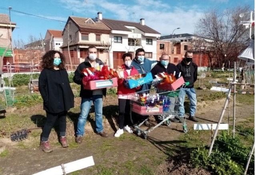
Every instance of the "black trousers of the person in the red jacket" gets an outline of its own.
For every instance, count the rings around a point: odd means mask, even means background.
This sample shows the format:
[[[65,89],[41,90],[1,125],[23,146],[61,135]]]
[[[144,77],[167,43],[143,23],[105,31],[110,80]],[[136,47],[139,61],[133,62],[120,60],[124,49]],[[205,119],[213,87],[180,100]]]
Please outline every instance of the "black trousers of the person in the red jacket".
[[[132,124],[130,120],[130,100],[129,99],[120,99],[118,98],[118,125],[120,129],[123,129],[124,126],[130,126]]]

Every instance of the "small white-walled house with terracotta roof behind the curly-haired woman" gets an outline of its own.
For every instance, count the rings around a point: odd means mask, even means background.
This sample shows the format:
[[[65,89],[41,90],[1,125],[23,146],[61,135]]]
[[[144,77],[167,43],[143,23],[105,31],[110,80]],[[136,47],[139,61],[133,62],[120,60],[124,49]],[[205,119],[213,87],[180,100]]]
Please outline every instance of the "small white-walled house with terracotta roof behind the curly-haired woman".
[[[63,45],[62,31],[61,30],[50,30],[46,31],[44,37],[44,50],[57,50],[61,51],[61,46]]]

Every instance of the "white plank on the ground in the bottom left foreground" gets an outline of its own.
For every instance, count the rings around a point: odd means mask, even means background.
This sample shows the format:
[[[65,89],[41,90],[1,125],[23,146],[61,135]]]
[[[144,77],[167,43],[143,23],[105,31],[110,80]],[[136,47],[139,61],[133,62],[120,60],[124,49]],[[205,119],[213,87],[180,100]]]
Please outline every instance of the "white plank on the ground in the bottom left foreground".
[[[93,157],[90,156],[90,157],[86,157],[86,158],[79,159],[76,161],[72,161],[70,163],[66,163],[66,164],[64,164],[64,167],[65,167],[66,173],[71,173],[74,171],[78,171],[80,169],[90,167],[92,165],[94,165],[94,160],[93,160]],[[51,174],[52,175],[63,175],[61,166],[46,169],[44,171],[35,173],[33,175],[51,175]]]

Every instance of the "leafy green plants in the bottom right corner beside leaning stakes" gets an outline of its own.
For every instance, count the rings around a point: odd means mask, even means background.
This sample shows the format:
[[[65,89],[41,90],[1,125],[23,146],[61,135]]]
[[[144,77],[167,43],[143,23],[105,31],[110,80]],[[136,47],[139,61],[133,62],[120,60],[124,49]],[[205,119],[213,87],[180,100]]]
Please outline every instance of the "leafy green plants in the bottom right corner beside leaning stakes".
[[[217,175],[241,175],[247,163],[250,147],[246,147],[238,137],[232,138],[222,132],[216,139],[212,154],[200,147],[190,153],[190,163],[194,167],[208,169]],[[252,156],[248,174],[254,174],[254,156]]]

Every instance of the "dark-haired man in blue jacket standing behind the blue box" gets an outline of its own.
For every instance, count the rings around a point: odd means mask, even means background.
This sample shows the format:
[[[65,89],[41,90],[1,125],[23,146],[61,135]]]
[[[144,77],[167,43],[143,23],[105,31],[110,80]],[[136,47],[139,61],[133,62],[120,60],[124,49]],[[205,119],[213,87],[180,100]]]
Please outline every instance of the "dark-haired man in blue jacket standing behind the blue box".
[[[136,50],[135,58],[132,60],[133,67],[137,69],[139,73],[149,73],[156,63],[156,61],[145,58],[145,51],[142,48]],[[136,91],[150,90],[150,88],[151,82],[141,85],[141,88]]]

